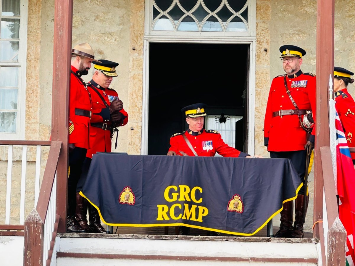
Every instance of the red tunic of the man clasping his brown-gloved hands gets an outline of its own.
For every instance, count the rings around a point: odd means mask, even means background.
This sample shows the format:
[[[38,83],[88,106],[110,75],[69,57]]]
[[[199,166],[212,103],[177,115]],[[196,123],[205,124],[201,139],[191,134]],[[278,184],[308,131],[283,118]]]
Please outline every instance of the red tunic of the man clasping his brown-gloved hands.
[[[87,151],[86,157],[92,158],[92,154],[96,152],[111,152],[112,124],[110,110],[106,104],[110,106],[111,102],[118,98],[118,94],[114,89],[100,87],[93,80],[87,83],[87,86],[92,99],[92,116],[90,124],[91,148]],[[95,89],[100,93],[106,104]],[[122,120],[119,125],[115,126],[124,126],[128,122],[127,112],[122,109],[120,113],[122,114]]]

